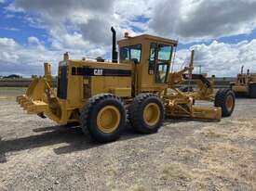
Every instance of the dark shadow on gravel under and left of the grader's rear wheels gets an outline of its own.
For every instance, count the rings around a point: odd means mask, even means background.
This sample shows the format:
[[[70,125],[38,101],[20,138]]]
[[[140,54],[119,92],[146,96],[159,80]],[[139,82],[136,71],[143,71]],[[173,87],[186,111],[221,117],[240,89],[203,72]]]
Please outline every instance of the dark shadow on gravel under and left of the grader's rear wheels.
[[[32,149],[42,146],[54,146],[61,143],[67,143],[68,146],[61,146],[53,148],[57,155],[71,153],[74,151],[85,150],[101,144],[95,143],[88,132],[84,134],[79,126],[66,127],[66,126],[50,126],[37,128],[33,130],[35,135],[26,137],[3,140],[0,137],[0,163],[7,162],[6,153],[15,152],[26,149]],[[142,134],[135,134],[130,127],[121,136],[121,141],[126,139],[136,138]]]

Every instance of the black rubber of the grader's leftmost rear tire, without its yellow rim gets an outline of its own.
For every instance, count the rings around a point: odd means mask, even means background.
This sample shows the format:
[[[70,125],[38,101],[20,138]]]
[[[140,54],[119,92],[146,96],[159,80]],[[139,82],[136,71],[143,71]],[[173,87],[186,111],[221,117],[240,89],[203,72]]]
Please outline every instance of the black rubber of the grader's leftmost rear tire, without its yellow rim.
[[[120,122],[118,127],[112,133],[103,133],[97,125],[97,116],[101,108],[114,106],[120,112]],[[80,115],[81,128],[85,134],[87,130],[91,137],[100,143],[107,143],[117,140],[122,134],[126,125],[127,113],[122,101],[111,94],[100,94],[88,99],[88,102],[82,108]]]

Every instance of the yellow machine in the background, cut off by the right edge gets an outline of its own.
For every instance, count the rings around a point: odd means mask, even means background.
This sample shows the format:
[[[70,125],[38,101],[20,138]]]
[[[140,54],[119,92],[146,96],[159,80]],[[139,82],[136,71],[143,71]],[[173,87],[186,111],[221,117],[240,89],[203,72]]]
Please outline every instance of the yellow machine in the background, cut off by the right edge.
[[[256,98],[256,73],[244,73],[244,66],[241,67],[241,73],[237,74],[236,82],[230,83],[230,88],[236,96],[246,95]]]

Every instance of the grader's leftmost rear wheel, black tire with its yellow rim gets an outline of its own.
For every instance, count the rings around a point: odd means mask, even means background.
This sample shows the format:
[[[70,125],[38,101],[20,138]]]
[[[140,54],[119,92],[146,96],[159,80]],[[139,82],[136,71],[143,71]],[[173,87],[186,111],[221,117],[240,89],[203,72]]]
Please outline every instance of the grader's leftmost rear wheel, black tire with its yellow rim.
[[[116,96],[96,95],[88,99],[80,115],[82,130],[100,143],[115,141],[126,124],[126,109]]]

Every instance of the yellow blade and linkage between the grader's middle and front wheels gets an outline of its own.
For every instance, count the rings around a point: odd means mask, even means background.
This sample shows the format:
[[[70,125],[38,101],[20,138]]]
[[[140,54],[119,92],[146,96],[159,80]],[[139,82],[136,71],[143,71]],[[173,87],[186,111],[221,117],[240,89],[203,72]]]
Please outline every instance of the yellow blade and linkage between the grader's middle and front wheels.
[[[170,73],[168,87],[174,91],[172,94],[165,92],[163,97],[166,106],[166,112],[168,117],[172,118],[191,118],[201,120],[215,120],[220,121],[222,118],[221,108],[203,108],[195,107],[193,102],[195,99],[203,99],[207,101],[213,101],[213,86],[207,88],[201,81],[196,81],[199,91],[193,93],[183,93],[176,85],[184,82],[182,74],[188,72],[192,75],[194,70],[194,51],[191,52],[191,59],[188,67],[183,70]],[[213,83],[213,82],[211,82]]]

